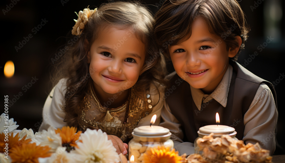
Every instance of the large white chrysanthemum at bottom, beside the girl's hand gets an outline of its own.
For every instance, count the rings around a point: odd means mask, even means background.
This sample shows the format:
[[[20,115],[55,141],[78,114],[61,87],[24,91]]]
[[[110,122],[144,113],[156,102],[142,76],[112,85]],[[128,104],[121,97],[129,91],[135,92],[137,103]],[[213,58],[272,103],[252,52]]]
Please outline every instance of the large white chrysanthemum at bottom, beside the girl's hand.
[[[115,163],[119,162],[119,155],[107,134],[101,130],[87,130],[80,135],[82,142],[78,148],[70,151],[71,162],[84,163]]]

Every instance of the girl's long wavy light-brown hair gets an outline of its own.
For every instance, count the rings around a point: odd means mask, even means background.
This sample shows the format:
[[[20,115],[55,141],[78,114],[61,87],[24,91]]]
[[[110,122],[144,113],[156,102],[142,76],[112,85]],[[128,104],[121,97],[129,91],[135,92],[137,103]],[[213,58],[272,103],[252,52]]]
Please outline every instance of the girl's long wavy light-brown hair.
[[[60,78],[67,79],[64,108],[66,117],[64,121],[69,126],[77,126],[76,120],[81,114],[80,103],[86,95],[88,82],[92,80],[90,77],[92,72],[89,72],[89,64],[86,58],[88,51],[85,49],[90,49],[97,33],[106,25],[115,26],[122,30],[130,28],[137,38],[145,44],[146,57],[143,73],[136,83],[136,91],[146,93],[151,83],[155,86],[158,86],[157,83],[165,84],[165,61],[153,40],[154,18],[151,12],[136,1],[105,3],[88,19],[82,35],[64,55],[60,63],[63,65],[62,71],[57,71],[56,74],[55,79],[57,80],[54,83]],[[158,93],[163,91],[158,87],[157,90]]]

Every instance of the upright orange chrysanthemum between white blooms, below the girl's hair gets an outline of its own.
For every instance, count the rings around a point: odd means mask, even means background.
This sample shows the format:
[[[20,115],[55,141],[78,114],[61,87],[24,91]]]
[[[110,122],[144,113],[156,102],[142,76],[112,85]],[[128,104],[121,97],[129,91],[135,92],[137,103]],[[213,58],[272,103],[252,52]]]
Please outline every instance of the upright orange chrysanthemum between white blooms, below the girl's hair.
[[[58,128],[57,130],[55,130],[56,134],[57,133],[60,134],[60,137],[62,139],[62,146],[66,146],[67,150],[69,150],[70,146],[78,148],[75,141],[78,140],[82,131],[78,131],[76,133],[76,130],[77,130],[76,127],[69,127],[69,126],[64,126],[64,127],[62,127],[62,129]]]

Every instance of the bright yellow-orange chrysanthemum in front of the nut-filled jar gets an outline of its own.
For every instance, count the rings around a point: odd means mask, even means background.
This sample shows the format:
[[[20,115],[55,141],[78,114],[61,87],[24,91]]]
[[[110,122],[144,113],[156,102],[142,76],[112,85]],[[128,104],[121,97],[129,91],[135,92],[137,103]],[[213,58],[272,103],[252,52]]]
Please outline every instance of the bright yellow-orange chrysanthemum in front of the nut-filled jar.
[[[171,151],[164,146],[148,149],[143,155],[144,163],[182,163],[185,160],[185,155],[179,156],[175,149]]]

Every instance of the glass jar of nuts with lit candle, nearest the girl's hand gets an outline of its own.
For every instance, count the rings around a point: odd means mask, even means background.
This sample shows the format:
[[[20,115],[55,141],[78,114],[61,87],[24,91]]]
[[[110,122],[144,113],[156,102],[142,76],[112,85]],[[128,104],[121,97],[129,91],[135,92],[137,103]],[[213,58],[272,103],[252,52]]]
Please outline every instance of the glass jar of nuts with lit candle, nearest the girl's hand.
[[[129,159],[133,155],[135,162],[141,163],[142,156],[149,148],[164,146],[170,150],[174,143],[170,139],[171,133],[167,128],[161,126],[140,126],[132,132],[133,139],[129,142]]]

